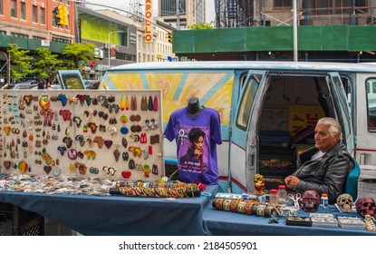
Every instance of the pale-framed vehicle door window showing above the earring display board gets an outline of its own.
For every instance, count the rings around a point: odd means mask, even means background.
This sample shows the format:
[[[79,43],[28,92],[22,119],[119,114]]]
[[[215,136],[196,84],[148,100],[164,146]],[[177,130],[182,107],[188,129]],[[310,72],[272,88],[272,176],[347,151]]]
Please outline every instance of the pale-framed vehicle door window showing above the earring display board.
[[[77,70],[57,71],[53,83],[53,89],[85,89],[82,75]]]

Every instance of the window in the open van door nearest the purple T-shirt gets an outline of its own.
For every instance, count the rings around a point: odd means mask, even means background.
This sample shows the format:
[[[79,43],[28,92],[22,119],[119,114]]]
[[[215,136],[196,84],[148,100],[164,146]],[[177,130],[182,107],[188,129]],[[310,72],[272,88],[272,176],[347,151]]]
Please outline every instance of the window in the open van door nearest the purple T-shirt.
[[[250,75],[242,77],[242,90],[244,90],[242,100],[240,102],[239,111],[236,115],[236,126],[240,129],[246,130],[249,121],[249,114],[251,112],[255,94],[257,93],[260,84],[261,75]]]

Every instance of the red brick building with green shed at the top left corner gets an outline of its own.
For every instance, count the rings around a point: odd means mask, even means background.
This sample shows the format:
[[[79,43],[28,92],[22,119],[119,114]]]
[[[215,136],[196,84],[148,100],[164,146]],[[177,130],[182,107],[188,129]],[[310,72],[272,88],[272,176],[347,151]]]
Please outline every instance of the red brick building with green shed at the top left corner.
[[[68,25],[57,25],[53,8],[65,5]],[[0,0],[0,83],[11,83],[9,44],[21,49],[48,47],[62,52],[65,44],[75,42],[75,5],[66,0]]]

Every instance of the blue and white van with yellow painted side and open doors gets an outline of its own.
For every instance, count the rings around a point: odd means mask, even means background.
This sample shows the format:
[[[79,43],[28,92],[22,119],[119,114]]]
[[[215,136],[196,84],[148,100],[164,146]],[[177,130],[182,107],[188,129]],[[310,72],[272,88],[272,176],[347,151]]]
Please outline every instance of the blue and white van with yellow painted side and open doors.
[[[371,64],[310,62],[175,62],[125,64],[107,71],[100,89],[160,89],[163,126],[191,97],[220,114],[220,185],[253,192],[262,174],[265,189],[284,184],[299,154],[314,145],[313,129],[324,116],[342,125],[343,143],[361,166],[376,164],[376,114]],[[376,92],[376,91],[375,91]],[[166,160],[175,142],[164,141]]]

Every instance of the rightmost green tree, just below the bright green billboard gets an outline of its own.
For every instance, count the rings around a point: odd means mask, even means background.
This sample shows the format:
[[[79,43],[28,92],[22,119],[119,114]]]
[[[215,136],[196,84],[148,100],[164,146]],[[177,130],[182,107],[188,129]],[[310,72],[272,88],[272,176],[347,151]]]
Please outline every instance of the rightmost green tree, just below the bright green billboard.
[[[82,62],[87,63],[94,59],[95,44],[67,44],[63,49],[63,61],[67,69],[80,69]]]

